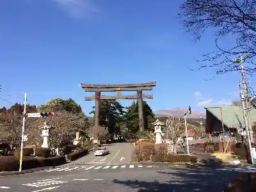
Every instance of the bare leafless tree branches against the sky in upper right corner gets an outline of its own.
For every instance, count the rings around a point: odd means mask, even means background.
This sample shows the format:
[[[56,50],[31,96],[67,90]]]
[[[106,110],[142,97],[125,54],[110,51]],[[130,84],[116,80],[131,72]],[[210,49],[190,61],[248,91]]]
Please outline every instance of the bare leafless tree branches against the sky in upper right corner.
[[[215,67],[216,75],[240,70],[234,63],[243,54],[247,65],[244,72],[256,71],[256,0],[185,0],[179,17],[186,31],[200,39],[206,29],[214,29],[218,51],[203,55],[200,68]],[[220,47],[223,38],[232,36],[235,44]]]

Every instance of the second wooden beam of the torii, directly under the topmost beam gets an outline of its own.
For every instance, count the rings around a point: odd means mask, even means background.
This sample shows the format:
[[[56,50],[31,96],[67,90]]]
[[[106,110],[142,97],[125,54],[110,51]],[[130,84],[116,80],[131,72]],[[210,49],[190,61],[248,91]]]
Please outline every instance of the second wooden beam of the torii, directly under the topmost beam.
[[[154,86],[136,86],[136,87],[120,87],[120,88],[83,88],[86,92],[117,92],[117,91],[138,91],[152,90]]]

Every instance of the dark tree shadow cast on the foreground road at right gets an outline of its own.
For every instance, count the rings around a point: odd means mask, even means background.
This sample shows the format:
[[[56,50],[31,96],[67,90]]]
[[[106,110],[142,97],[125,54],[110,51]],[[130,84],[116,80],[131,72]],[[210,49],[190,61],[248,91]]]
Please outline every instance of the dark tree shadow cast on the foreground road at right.
[[[168,192],[221,192],[229,180],[246,172],[236,172],[232,169],[216,170],[215,168],[175,168],[158,171],[159,179],[145,180],[113,180],[115,184],[123,184],[138,192],[168,191]],[[163,176],[164,175],[164,176]]]

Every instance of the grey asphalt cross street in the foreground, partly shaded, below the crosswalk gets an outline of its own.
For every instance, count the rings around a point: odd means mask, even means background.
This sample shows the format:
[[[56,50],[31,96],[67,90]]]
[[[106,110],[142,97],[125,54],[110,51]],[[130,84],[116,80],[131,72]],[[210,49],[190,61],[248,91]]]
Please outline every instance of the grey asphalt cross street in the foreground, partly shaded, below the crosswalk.
[[[36,172],[0,178],[0,191],[80,192],[80,191],[168,191],[219,192],[233,179],[255,168],[188,168],[159,166],[152,169],[127,169],[116,172]],[[56,174],[56,173],[54,173]]]

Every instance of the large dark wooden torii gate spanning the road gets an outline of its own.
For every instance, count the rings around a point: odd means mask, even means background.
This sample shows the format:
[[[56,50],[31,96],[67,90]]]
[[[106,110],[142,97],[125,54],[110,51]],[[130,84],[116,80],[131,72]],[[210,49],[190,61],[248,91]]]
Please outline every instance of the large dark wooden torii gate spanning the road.
[[[100,99],[117,100],[117,99],[138,99],[139,127],[140,131],[144,131],[143,118],[143,99],[153,99],[153,95],[145,95],[143,90],[152,90],[156,86],[156,82],[140,83],[140,84],[84,84],[81,87],[86,92],[95,92],[95,96],[85,97],[85,100],[95,100],[94,126],[100,127]],[[121,91],[136,91],[136,95],[121,95]],[[101,95],[101,92],[116,92],[115,96]]]

